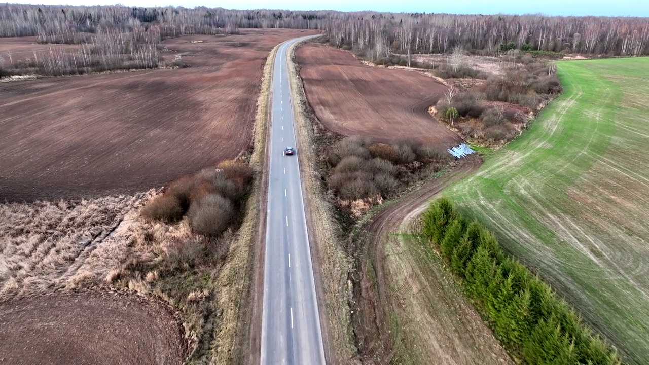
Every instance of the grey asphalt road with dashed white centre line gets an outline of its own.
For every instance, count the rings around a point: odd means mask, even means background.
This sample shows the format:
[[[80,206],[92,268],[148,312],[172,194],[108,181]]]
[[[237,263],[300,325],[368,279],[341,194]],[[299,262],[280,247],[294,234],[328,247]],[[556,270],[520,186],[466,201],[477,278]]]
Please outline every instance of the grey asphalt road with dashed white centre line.
[[[268,215],[263,271],[261,363],[324,364],[324,348],[306,231],[295,147],[287,50],[302,38],[280,45],[273,66],[269,145]]]

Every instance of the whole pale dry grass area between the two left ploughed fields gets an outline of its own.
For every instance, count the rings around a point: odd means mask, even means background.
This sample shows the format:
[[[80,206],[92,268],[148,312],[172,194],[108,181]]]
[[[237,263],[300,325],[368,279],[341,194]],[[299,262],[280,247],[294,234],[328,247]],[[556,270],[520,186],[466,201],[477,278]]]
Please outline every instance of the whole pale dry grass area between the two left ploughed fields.
[[[0,297],[115,287],[154,294],[180,310],[193,361],[212,339],[210,297],[230,237],[193,234],[186,219],[145,220],[138,208],[157,197],[0,205]]]

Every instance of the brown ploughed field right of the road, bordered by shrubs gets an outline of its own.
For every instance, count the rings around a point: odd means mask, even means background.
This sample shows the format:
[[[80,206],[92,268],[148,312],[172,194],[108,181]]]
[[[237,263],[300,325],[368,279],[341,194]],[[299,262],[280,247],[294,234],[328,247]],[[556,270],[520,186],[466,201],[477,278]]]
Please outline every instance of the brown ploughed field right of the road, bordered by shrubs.
[[[349,52],[319,44],[302,45],[295,58],[306,97],[330,131],[382,143],[397,138],[443,146],[462,142],[426,111],[447,90],[432,77],[366,66]]]

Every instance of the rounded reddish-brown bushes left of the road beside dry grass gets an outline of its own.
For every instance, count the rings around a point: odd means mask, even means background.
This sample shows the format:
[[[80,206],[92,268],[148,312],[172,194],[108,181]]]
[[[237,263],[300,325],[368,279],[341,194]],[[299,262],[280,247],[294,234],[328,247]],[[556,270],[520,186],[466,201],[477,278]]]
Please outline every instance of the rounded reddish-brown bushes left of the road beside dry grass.
[[[245,163],[225,160],[170,183],[142,208],[149,220],[173,223],[187,216],[197,233],[217,236],[228,228],[253,179]]]

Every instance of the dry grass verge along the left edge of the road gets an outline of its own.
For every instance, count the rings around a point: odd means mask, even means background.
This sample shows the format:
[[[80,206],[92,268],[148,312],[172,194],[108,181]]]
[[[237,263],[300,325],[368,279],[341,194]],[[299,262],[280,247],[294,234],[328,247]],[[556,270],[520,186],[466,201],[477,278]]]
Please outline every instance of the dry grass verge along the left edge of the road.
[[[245,207],[243,223],[236,239],[230,245],[228,259],[217,279],[217,307],[221,312],[221,325],[215,329],[215,347],[210,364],[241,364],[247,362],[245,353],[252,349],[247,334],[252,317],[251,277],[253,257],[258,255],[251,248],[258,235],[260,207],[262,205],[262,172],[266,151],[268,105],[270,102],[273,62],[278,45],[269,54],[263,69],[262,90],[257,100],[257,115],[254,123],[254,149],[249,166],[254,171],[251,193]],[[242,305],[246,303],[246,305]],[[248,325],[246,325],[248,323]],[[241,344],[243,346],[239,346]]]

